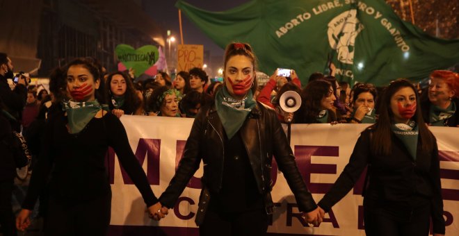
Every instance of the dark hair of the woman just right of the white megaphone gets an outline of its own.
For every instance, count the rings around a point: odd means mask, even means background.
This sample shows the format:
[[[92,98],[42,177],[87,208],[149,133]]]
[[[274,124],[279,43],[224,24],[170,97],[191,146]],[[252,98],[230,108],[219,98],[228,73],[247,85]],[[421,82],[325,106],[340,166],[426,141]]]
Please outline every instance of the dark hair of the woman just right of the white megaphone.
[[[308,83],[300,94],[301,106],[293,115],[293,123],[317,123],[317,116],[322,110],[321,101],[324,97],[330,95],[331,86],[330,82],[321,79]]]

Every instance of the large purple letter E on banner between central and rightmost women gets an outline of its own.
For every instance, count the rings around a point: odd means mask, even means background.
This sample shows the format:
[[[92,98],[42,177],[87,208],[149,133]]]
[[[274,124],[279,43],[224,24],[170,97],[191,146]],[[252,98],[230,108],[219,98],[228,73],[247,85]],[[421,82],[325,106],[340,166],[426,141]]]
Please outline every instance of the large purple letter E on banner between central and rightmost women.
[[[337,174],[337,165],[312,164],[312,155],[339,156],[339,146],[295,146],[296,165],[303,175],[309,191],[313,194],[325,194],[332,183],[311,183],[311,174]]]

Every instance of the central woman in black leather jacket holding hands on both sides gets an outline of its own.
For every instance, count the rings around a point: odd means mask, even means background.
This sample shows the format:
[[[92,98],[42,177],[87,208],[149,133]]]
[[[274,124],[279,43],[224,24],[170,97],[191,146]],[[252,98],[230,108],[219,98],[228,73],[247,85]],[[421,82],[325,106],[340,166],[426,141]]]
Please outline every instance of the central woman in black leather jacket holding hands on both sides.
[[[213,103],[200,108],[176,174],[160,198],[161,204],[172,208],[202,160],[202,193],[195,217],[200,235],[266,234],[268,214],[273,212],[273,155],[299,210],[308,212],[303,217],[316,225],[322,219],[276,113],[253,97],[255,64],[248,44],[227,46],[224,85]]]

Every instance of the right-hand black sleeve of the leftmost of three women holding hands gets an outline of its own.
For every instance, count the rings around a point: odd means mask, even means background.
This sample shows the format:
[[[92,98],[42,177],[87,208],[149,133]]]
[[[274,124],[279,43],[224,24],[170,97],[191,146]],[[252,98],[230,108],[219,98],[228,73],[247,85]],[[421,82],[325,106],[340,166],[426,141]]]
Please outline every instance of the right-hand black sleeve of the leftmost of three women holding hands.
[[[150,183],[148,183],[147,176],[145,176],[145,171],[143,171],[136,155],[134,155],[129,145],[126,130],[120,119],[111,114],[107,115],[109,116],[106,117],[108,121],[106,123],[106,128],[108,130],[108,145],[115,150],[122,167],[126,170],[129,178],[134,182],[140,194],[142,194],[143,201],[147,207],[150,207],[157,203],[158,199],[154,196]]]

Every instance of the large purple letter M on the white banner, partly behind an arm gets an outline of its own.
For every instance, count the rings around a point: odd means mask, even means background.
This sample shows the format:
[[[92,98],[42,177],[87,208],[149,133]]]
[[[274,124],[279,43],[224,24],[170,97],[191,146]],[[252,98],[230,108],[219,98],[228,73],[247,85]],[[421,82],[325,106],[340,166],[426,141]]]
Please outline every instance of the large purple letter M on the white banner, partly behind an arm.
[[[147,155],[147,179],[150,185],[159,185],[159,150],[161,149],[161,140],[153,140],[153,139],[143,139],[141,138],[138,140],[137,150],[136,150],[136,158],[140,163],[140,166],[143,165],[145,162],[145,155]],[[111,147],[108,148],[108,163],[106,163],[106,167],[108,167],[110,183],[114,183],[114,171],[115,171],[115,152]],[[124,184],[126,185],[134,185],[131,178],[127,175],[127,172],[124,170],[122,165],[121,167],[121,174],[122,179],[124,180]]]

